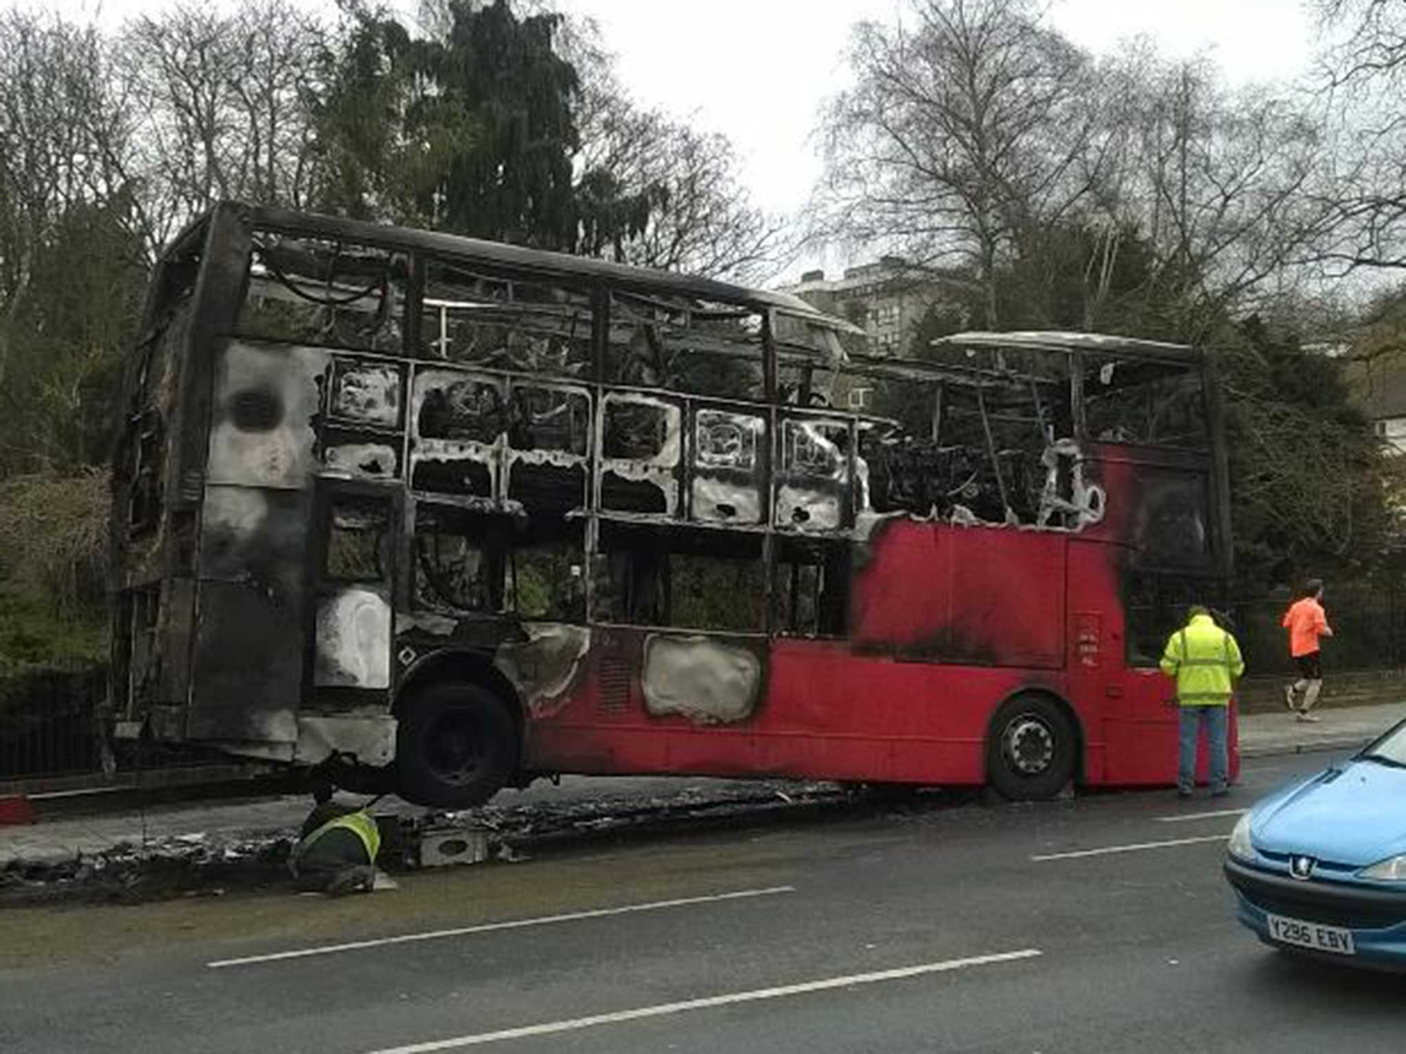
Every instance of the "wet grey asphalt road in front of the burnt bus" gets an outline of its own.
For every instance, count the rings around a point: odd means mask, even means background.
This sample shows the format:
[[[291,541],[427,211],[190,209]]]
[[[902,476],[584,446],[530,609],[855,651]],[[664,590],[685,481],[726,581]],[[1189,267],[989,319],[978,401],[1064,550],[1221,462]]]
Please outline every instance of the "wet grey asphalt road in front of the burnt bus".
[[[339,901],[6,911],[0,1051],[1398,1051],[1406,977],[1265,949],[1220,876],[1227,811],[1336,756],[1247,760],[1229,800],[936,797]]]

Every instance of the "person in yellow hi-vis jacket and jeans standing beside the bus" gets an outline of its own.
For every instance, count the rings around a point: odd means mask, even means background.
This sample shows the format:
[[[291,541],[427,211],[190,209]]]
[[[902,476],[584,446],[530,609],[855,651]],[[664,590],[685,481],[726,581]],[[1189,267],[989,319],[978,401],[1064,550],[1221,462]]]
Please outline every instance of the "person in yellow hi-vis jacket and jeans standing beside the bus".
[[[1234,637],[1216,625],[1199,604],[1187,611],[1187,624],[1167,638],[1161,672],[1177,682],[1180,749],[1177,797],[1189,798],[1197,781],[1197,738],[1206,729],[1211,753],[1211,797],[1230,793],[1230,757],[1226,749],[1226,713],[1234,683],[1244,673],[1244,659]]]

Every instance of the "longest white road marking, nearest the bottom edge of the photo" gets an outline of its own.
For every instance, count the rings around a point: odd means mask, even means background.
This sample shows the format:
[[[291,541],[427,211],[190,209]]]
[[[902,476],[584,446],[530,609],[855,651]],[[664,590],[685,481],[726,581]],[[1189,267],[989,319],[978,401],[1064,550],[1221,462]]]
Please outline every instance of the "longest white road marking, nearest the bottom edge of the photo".
[[[806,995],[807,992],[824,992],[831,988],[851,988],[853,985],[872,985],[882,981],[901,981],[907,977],[921,977],[924,974],[942,974],[950,970],[987,965],[991,963],[1012,963],[1019,958],[1035,958],[1039,949],[1022,949],[1019,951],[1001,951],[991,956],[973,956],[970,958],[949,958],[943,963],[922,963],[920,965],[900,967],[897,970],[880,970],[873,974],[849,974],[848,977],[827,977],[823,981],[804,981],[794,985],[779,985],[776,988],[754,988],[747,992],[728,992],[725,995],[710,995],[703,999],[685,999],[676,1003],[658,1003],[655,1006],[640,1006],[634,1010],[616,1010],[614,1013],[595,1013],[589,1017],[571,1017],[561,1022],[547,1022],[544,1024],[526,1024],[520,1029],[502,1029],[499,1032],[479,1032],[472,1036],[457,1036],[447,1040],[432,1040],[430,1043],[412,1043],[406,1047],[387,1047],[373,1051],[373,1054],[433,1054],[440,1050],[460,1050],[463,1047],[478,1047],[485,1043],[502,1043],[503,1040],[520,1040],[529,1036],[550,1036],[560,1032],[576,1032],[579,1029],[593,1029],[599,1024],[619,1024],[621,1022],[637,1022],[643,1017],[666,1017],[675,1013],[689,1013],[692,1010],[707,1010],[714,1006],[733,1006],[734,1003],[751,1003],[759,999],[780,999],[790,995]]]

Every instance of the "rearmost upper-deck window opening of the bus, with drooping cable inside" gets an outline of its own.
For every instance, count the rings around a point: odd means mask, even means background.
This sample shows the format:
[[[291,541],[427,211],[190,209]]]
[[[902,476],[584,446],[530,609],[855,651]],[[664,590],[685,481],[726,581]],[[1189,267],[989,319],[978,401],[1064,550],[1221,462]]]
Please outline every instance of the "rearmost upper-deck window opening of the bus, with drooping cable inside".
[[[299,344],[399,353],[404,256],[367,246],[260,233],[236,330]]]

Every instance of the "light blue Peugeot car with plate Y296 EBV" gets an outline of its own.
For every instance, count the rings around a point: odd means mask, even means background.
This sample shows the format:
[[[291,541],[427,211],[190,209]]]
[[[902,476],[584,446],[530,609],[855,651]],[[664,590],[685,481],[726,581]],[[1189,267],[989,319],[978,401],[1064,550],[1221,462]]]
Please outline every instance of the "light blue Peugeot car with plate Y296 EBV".
[[[1225,873],[1264,943],[1406,968],[1406,721],[1257,802]]]

